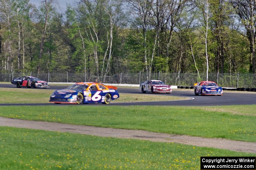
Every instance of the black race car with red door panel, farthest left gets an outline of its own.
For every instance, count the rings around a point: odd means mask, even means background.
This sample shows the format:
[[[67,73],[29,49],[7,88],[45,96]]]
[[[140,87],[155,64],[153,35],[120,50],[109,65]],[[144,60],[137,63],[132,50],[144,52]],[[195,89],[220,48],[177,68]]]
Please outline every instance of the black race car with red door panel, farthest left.
[[[49,88],[48,82],[42,81],[36,77],[32,76],[22,76],[15,78],[11,81],[12,84],[16,85],[17,88],[27,87],[27,88]]]

